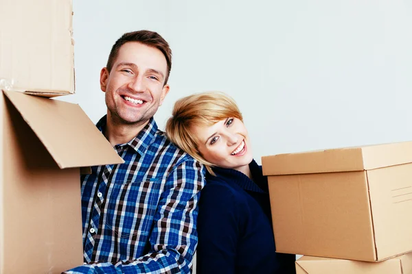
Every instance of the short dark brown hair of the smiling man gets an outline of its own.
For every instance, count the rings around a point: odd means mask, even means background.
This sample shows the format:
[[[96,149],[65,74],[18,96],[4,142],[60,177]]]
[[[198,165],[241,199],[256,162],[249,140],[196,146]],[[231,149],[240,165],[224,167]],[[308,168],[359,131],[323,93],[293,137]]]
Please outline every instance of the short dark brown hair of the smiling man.
[[[168,84],[170,70],[172,69],[172,50],[170,49],[168,42],[166,42],[166,40],[164,40],[163,37],[160,36],[160,34],[158,34],[157,32],[150,32],[149,30],[128,32],[117,39],[115,45],[113,45],[110,51],[110,54],[108,55],[106,64],[108,73],[110,73],[111,69],[113,68],[113,63],[117,58],[120,47],[122,47],[122,45],[124,45],[126,42],[140,42],[141,44],[144,44],[148,47],[159,49],[159,51],[161,51],[163,55],[165,55],[166,62],[168,63],[168,71],[166,71],[164,82],[164,84]]]

